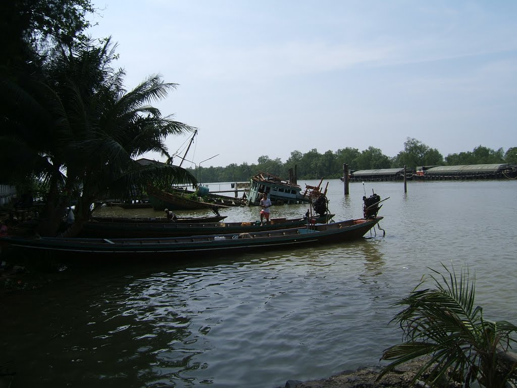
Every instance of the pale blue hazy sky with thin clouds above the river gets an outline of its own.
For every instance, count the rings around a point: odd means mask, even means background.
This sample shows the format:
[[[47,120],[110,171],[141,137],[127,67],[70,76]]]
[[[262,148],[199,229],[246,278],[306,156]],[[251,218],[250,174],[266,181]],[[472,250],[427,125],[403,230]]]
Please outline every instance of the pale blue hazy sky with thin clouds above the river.
[[[177,84],[153,105],[199,130],[183,167],[314,148],[392,157],[407,138],[444,157],[517,146],[513,0],[93,2],[87,33],[118,44],[127,89]],[[168,137],[169,152],[190,137]]]

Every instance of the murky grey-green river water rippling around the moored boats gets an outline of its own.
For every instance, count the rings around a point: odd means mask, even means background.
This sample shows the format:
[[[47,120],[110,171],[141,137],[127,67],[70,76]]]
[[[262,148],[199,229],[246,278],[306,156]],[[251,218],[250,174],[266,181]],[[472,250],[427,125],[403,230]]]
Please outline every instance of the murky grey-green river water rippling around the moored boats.
[[[377,364],[401,340],[388,325],[392,303],[440,263],[468,264],[485,318],[517,322],[517,181],[408,182],[407,193],[403,183],[351,183],[345,197],[331,180],[334,219],[361,217],[372,189],[389,197],[379,212],[384,237],[377,230],[290,251],[71,267],[43,288],[7,295],[0,365],[17,371],[11,388],[272,388]],[[306,210],[271,207],[273,218]],[[258,209],[221,213],[251,221]]]

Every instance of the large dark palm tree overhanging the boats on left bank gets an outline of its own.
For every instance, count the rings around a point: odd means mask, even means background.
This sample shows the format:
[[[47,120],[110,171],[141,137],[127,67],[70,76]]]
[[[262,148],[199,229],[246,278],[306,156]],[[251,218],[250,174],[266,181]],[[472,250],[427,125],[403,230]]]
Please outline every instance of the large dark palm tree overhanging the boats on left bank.
[[[110,66],[114,50],[110,39],[101,46],[87,42],[71,52],[60,50],[26,84],[8,80],[3,84],[17,92],[10,104],[26,110],[18,108],[18,116],[2,129],[6,155],[25,150],[23,161],[15,165],[12,161],[20,161],[19,157],[4,158],[5,163],[18,173],[37,167],[50,185],[47,222],[39,229],[42,234],[55,234],[71,199],[77,199],[73,235],[88,219],[96,198],[122,196],[129,188],[143,189],[153,180],[197,183],[193,175],[176,166],[141,166],[134,161],[149,151],[169,158],[165,138],[195,128],[162,116],[149,105],[164,98],[176,84],[155,75],[125,91],[124,70]],[[27,112],[34,112],[30,120]],[[9,148],[13,144],[20,146]]]

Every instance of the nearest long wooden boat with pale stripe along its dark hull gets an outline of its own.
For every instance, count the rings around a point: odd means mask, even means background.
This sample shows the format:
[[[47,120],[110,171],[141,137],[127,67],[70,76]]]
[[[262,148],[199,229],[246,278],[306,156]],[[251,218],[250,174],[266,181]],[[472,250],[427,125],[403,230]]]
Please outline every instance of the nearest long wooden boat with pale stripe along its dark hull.
[[[175,260],[186,254],[188,258],[207,253],[242,253],[251,250],[302,247],[314,244],[342,243],[361,238],[383,217],[351,219],[315,224],[304,228],[280,229],[240,234],[209,234],[175,238],[16,238],[0,237],[0,243],[53,253],[67,253],[69,260],[85,254],[88,260],[114,255],[142,258],[146,255]],[[73,253],[73,255],[70,255]]]

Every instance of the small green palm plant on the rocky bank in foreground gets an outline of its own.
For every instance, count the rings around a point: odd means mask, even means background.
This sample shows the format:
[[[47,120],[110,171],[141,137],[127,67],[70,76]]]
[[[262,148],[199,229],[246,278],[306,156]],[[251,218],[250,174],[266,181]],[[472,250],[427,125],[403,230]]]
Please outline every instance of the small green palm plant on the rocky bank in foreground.
[[[506,321],[488,321],[483,309],[474,305],[475,276],[468,267],[459,277],[452,267],[444,274],[429,268],[435,288],[423,288],[426,276],[409,296],[394,306],[406,306],[391,322],[404,331],[405,342],[383,352],[381,360],[394,360],[377,379],[396,366],[425,358],[414,379],[432,385],[444,378],[464,383],[477,381],[487,388],[504,387],[515,378],[516,364],[501,357],[515,342],[510,335],[517,326]],[[425,376],[425,377],[424,377]]]

